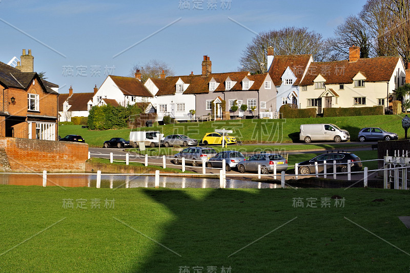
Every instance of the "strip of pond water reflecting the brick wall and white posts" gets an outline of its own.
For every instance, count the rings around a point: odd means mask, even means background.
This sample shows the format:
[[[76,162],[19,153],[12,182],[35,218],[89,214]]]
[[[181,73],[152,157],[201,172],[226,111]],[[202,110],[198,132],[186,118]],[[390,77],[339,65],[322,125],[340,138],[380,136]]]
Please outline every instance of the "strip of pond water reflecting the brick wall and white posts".
[[[191,178],[162,176],[159,178],[162,187],[169,188],[218,188],[219,179]],[[96,187],[97,175],[47,175],[47,185],[63,187]],[[32,174],[0,174],[0,184],[10,185],[43,185],[42,175]],[[154,176],[129,176],[129,175],[103,175],[101,187],[103,188],[130,188],[130,187],[154,187]],[[248,180],[227,179],[227,188],[276,188],[276,184],[252,182]]]

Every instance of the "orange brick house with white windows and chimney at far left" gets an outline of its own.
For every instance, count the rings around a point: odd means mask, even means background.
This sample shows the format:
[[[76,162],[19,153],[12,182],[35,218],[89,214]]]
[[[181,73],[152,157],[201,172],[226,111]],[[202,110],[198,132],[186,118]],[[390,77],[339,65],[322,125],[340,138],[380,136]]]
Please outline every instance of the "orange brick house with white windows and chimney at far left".
[[[58,86],[32,71],[31,50],[21,59],[0,62],[0,137],[57,140]]]

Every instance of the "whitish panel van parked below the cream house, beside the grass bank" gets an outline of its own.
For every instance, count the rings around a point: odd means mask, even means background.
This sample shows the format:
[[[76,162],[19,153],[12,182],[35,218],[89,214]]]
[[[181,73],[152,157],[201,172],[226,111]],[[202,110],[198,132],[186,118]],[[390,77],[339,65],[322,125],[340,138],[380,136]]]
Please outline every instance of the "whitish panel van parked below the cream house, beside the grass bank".
[[[347,141],[350,134],[335,124],[301,124],[299,140],[306,143],[311,141],[333,140],[335,142]]]

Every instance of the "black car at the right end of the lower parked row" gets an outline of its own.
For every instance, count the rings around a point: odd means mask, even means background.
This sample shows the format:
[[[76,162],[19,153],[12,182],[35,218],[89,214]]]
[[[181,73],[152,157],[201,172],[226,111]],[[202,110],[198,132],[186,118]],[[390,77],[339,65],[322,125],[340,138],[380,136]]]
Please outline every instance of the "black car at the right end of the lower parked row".
[[[326,160],[326,172],[333,173],[333,161],[336,160],[336,172],[346,173],[347,172],[347,160],[350,159],[351,171],[358,172],[362,169],[362,162],[360,158],[353,154],[347,152],[330,152],[321,154],[312,158],[311,160],[306,160],[298,164],[298,172],[302,175],[314,174],[315,162],[317,162],[318,173],[323,173],[324,165],[323,161]]]

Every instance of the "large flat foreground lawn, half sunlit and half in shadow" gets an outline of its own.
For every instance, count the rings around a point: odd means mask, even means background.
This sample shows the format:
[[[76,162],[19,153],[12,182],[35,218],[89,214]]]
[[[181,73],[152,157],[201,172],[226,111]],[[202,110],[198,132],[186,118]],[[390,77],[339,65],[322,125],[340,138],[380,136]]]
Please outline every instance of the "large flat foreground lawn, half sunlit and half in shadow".
[[[410,191],[0,185],[1,272],[408,272]],[[342,207],[330,197],[344,198]],[[294,207],[300,198],[303,207]],[[314,201],[308,205],[309,198]],[[330,207],[321,207],[321,201]],[[72,199],[74,208],[64,208]],[[83,199],[84,206],[77,205]],[[91,208],[92,200],[100,208]],[[105,200],[109,204],[105,207]],[[373,202],[383,199],[383,202]],[[112,205],[114,200],[114,206]],[[109,205],[111,204],[111,208]],[[372,234],[373,233],[373,234]],[[380,238],[378,238],[379,236]],[[401,249],[401,250],[400,250]],[[405,251],[405,253],[403,253]],[[407,254],[406,254],[407,253]]]

